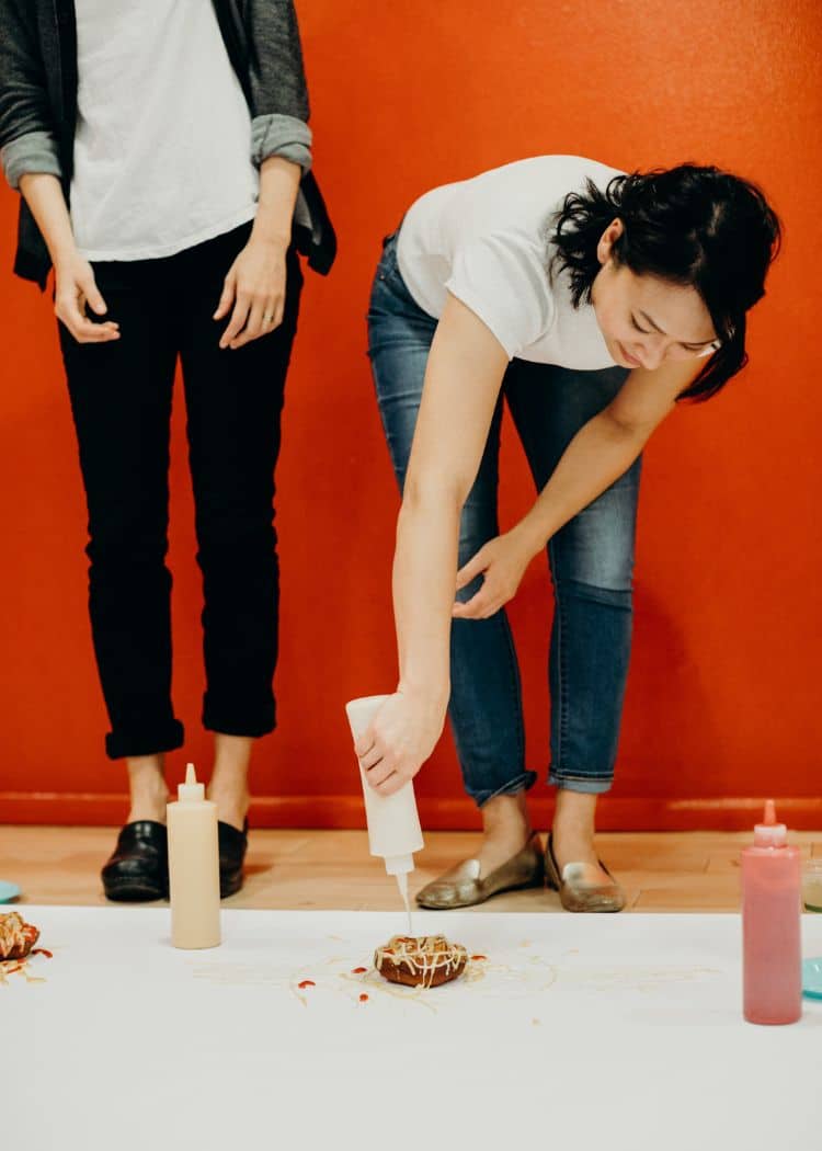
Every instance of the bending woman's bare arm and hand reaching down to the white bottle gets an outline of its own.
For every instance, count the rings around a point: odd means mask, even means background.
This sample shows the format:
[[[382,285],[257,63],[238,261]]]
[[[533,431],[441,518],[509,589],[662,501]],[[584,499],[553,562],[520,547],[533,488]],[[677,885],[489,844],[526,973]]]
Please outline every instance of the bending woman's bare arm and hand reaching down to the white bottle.
[[[508,365],[505,351],[449,296],[428,356],[397,521],[394,617],[399,683],[357,742],[390,794],[431,755],[450,694],[449,635],[459,517],[479,470]]]

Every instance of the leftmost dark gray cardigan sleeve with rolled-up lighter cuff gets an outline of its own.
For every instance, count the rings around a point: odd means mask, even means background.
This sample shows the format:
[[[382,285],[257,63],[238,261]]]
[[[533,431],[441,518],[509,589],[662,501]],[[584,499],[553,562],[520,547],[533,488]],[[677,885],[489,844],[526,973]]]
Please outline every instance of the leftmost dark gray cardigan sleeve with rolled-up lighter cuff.
[[[0,161],[12,188],[21,176],[61,175],[35,5],[0,0]]]

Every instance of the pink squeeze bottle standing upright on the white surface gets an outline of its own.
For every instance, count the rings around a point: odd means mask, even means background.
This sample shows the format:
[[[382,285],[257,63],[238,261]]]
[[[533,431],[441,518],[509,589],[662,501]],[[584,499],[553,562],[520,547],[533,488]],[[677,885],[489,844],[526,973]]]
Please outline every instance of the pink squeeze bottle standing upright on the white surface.
[[[799,848],[767,800],[743,848],[743,999],[748,1023],[796,1023],[802,1013]]]

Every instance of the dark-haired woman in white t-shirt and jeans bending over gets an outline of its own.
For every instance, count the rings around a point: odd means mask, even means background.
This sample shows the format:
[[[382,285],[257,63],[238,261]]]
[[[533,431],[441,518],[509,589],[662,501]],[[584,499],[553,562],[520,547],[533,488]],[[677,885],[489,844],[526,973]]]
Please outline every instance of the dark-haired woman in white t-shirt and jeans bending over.
[[[594,813],[629,666],[640,453],[678,402],[707,399],[744,366],[746,313],[778,239],[762,193],[716,168],[625,175],[547,155],[435,189],[385,242],[368,329],[403,491],[399,683],[357,753],[390,794],[431,755],[448,707],[485,831],[474,859],[419,892],[423,906],[541,884],[543,867],[570,910],[624,906]],[[539,495],[500,534],[503,399]],[[543,861],[502,609],[546,547],[558,794]]]

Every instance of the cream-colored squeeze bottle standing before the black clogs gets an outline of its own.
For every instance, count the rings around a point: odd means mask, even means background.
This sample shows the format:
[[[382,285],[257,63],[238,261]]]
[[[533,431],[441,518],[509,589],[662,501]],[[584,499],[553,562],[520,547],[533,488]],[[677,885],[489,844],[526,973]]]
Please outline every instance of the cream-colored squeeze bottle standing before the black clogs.
[[[216,803],[205,798],[193,763],[167,807],[168,883],[174,947],[220,945],[220,847]]]

